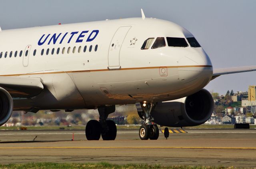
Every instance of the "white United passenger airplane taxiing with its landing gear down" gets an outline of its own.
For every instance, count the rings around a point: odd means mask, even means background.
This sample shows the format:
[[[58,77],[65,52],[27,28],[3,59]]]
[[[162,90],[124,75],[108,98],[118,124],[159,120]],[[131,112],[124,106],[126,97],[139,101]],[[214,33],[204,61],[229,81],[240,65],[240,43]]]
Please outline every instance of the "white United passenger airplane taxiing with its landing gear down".
[[[214,78],[256,66],[213,69],[196,38],[173,22],[146,18],[0,29],[0,125],[12,111],[98,109],[88,140],[114,140],[107,120],[116,105],[135,104],[140,139],[156,140],[158,125],[206,122]]]

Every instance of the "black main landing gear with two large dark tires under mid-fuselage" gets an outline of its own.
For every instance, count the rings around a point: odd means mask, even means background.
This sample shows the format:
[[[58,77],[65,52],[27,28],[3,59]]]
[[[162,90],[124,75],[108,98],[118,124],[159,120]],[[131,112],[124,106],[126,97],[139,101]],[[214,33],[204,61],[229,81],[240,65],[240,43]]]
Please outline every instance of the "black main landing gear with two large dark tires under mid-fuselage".
[[[100,135],[103,140],[116,139],[116,123],[112,120],[106,120],[110,113],[114,113],[115,109],[115,105],[98,108],[100,120],[90,120],[86,125],[85,135],[87,140],[99,140]]]

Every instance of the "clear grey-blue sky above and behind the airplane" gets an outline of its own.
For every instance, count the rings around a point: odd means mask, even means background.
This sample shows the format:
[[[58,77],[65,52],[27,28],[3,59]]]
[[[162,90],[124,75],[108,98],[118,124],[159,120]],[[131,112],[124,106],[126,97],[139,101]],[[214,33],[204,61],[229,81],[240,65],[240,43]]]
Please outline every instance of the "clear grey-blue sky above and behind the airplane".
[[[2,30],[146,17],[189,30],[213,68],[256,65],[256,0],[0,0]],[[223,75],[205,88],[225,94],[256,85],[256,72]]]

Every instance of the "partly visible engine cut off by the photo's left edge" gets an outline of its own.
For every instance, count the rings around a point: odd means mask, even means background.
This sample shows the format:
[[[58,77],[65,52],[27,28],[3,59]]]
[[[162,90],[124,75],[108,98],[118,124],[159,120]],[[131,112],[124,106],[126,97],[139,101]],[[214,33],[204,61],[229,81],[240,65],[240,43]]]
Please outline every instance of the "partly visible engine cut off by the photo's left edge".
[[[0,126],[10,119],[12,115],[13,101],[11,95],[0,87]]]

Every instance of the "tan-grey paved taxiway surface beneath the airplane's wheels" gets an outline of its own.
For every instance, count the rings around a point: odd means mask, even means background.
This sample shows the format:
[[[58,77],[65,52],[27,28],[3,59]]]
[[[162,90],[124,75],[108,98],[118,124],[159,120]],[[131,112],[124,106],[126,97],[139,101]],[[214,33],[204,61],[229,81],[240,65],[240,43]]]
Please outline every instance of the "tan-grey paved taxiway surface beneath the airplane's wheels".
[[[185,129],[166,140],[118,130],[115,141],[86,141],[84,130],[0,131],[0,163],[101,162],[256,167],[256,129]],[[74,141],[71,141],[74,133]]]

